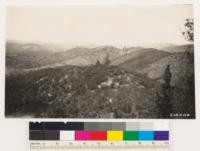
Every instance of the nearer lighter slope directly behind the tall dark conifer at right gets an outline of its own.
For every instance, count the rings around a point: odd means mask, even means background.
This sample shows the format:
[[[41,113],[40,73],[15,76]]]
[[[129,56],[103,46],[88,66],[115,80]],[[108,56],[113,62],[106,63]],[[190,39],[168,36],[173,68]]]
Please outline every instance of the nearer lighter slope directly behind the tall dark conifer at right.
[[[157,79],[162,82],[161,79],[167,65],[170,65],[172,72],[172,85],[184,85],[186,83],[186,74],[191,75],[194,73],[193,63],[190,63],[188,56],[183,52],[173,53],[152,64],[137,68],[136,71],[151,79]]]

